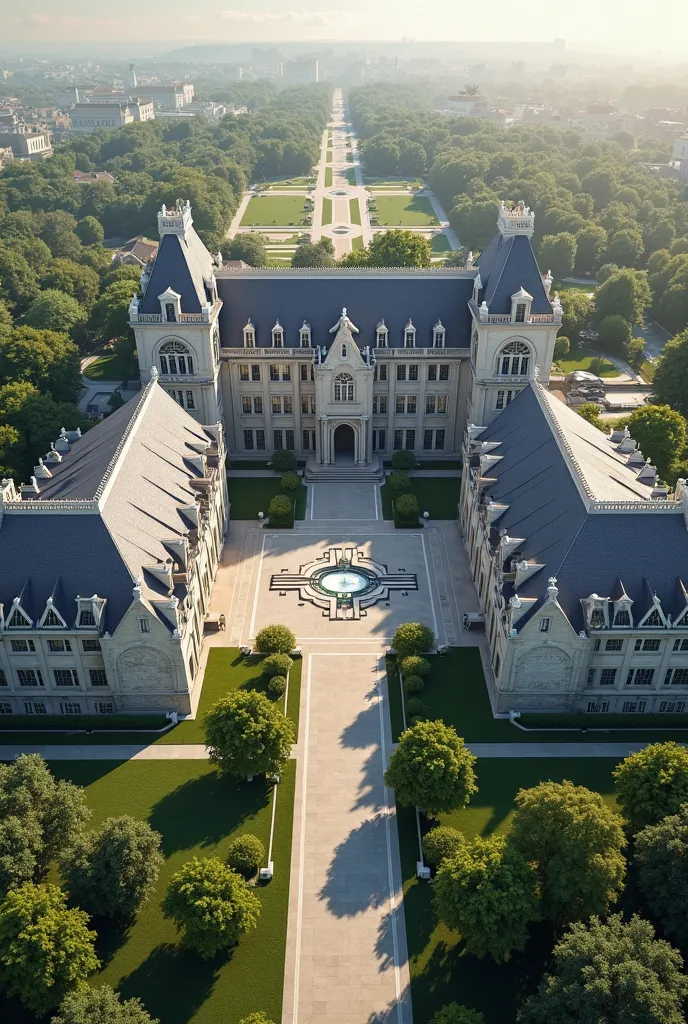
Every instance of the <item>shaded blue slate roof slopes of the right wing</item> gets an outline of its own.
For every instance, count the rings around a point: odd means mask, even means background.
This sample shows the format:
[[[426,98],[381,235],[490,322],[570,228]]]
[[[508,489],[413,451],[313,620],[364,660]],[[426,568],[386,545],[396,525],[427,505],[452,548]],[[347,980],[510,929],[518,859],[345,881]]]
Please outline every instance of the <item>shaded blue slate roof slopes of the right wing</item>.
[[[530,387],[479,440],[502,442],[493,454],[503,458],[487,472],[496,482],[484,490],[486,499],[509,506],[494,526],[524,538],[522,557],[545,566],[518,588],[519,597],[538,601],[517,629],[541,606],[551,575],[557,578],[559,603],[576,631],[586,628],[580,599],[593,593],[613,599],[621,585],[634,601],[636,623],[650,607],[652,593],[673,617],[683,610],[680,581],[688,580],[688,530],[680,511],[589,512]],[[505,584],[507,601],[514,593]]]

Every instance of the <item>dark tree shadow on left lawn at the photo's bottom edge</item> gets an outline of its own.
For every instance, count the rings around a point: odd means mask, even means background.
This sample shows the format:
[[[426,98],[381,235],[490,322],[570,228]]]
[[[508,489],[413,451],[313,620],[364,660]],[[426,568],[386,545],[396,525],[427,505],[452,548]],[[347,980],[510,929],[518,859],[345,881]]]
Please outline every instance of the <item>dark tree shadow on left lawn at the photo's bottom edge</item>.
[[[138,996],[154,1018],[165,1024],[186,1024],[211,995],[227,954],[205,961],[193,949],[166,942],[123,978],[123,999]],[[183,978],[183,984],[178,980]]]

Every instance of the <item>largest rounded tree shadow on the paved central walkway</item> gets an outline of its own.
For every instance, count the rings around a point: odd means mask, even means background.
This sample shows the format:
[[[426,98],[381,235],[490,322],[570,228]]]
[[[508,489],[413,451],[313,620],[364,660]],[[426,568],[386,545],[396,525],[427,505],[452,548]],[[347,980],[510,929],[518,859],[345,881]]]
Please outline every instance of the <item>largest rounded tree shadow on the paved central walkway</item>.
[[[335,850],[318,896],[336,918],[353,918],[389,899],[387,833],[377,814],[354,828]]]

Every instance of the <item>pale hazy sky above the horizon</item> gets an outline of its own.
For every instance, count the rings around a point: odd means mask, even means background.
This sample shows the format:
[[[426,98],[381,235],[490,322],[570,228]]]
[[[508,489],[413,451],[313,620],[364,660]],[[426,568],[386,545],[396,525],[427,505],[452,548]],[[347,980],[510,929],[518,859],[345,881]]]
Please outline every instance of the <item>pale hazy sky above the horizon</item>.
[[[688,38],[688,0],[0,0],[0,51],[3,40],[150,40],[166,46],[402,35],[515,42],[563,37],[677,51]]]

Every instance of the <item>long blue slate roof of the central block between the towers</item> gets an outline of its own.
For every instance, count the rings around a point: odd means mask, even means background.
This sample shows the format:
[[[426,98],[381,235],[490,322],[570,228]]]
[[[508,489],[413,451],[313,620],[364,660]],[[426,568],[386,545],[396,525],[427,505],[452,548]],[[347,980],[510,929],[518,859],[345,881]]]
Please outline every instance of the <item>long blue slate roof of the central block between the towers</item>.
[[[385,321],[390,347],[403,346],[403,328],[411,317],[416,345],[432,345],[432,329],[441,319],[446,329],[445,345],[470,345],[471,315],[468,302],[473,294],[475,271],[429,270],[225,270],[218,271],[217,288],[224,305],[220,313],[222,345],[241,348],[249,317],[256,328],[256,344],[271,345],[272,328],[280,321],[285,343],[298,347],[304,319],[310,325],[315,345],[330,346],[330,328],[342,308],[358,328],[360,346],[375,345],[378,323]],[[149,290],[149,286],[148,286]]]

